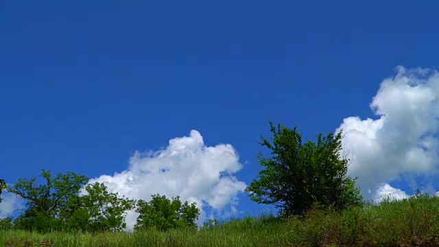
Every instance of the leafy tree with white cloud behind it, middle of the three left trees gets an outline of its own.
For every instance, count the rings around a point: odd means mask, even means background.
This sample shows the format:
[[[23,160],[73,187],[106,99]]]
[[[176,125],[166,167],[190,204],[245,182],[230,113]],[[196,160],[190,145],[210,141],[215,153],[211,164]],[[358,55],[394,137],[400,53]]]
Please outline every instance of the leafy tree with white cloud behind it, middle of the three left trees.
[[[126,227],[123,222],[126,211],[134,209],[135,200],[119,198],[117,193],[108,193],[102,183],[86,185],[88,194],[73,198],[61,215],[69,228],[82,231],[120,231]]]

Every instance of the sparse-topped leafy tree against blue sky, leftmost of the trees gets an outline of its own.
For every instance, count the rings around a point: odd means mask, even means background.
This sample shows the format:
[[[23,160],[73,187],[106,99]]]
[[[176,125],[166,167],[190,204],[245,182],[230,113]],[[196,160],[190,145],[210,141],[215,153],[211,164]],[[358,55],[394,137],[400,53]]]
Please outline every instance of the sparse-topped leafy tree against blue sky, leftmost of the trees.
[[[62,220],[58,217],[60,209],[67,207],[66,202],[78,197],[80,189],[88,178],[83,175],[67,172],[52,178],[50,171],[42,170],[40,177],[45,184],[35,185],[36,178],[27,180],[19,178],[8,191],[27,200],[27,209],[14,220],[14,226],[26,230],[49,231],[62,228]]]

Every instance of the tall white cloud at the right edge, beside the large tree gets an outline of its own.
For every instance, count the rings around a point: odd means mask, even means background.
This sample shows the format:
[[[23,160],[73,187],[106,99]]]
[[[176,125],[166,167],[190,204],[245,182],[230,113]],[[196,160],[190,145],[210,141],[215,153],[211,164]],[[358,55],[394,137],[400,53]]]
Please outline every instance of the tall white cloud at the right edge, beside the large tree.
[[[366,198],[392,191],[394,180],[438,174],[438,96],[438,71],[397,67],[370,103],[377,119],[347,117],[335,130],[343,129],[348,175]]]

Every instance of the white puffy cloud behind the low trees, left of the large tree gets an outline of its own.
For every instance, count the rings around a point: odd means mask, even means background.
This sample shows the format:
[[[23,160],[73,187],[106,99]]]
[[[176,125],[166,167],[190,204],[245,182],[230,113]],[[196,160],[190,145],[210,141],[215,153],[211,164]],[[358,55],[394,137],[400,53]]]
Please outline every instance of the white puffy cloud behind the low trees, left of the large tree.
[[[207,147],[200,132],[191,130],[189,137],[171,139],[162,150],[135,152],[123,172],[102,175],[88,183],[104,183],[119,196],[147,201],[154,193],[180,196],[182,202],[196,202],[201,209],[200,223],[206,219],[206,211],[227,214],[236,210],[237,195],[246,189],[246,184],[233,176],[241,168],[232,145]],[[136,219],[137,213],[128,212],[128,230]]]

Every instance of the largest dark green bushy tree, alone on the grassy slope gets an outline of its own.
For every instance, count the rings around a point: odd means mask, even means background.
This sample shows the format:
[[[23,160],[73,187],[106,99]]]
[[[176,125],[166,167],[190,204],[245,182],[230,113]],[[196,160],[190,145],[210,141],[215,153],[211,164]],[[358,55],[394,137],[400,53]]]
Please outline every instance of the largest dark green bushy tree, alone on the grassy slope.
[[[259,144],[271,156],[257,156],[265,169],[246,188],[254,202],[274,204],[281,215],[304,215],[313,204],[335,210],[361,206],[363,199],[355,179],[346,176],[348,159],[340,156],[342,132],[327,137],[318,134],[317,143],[302,142],[297,128],[276,127],[272,121],[272,143],[261,136]]]

